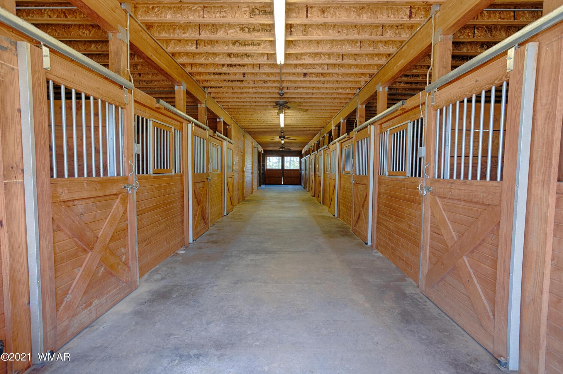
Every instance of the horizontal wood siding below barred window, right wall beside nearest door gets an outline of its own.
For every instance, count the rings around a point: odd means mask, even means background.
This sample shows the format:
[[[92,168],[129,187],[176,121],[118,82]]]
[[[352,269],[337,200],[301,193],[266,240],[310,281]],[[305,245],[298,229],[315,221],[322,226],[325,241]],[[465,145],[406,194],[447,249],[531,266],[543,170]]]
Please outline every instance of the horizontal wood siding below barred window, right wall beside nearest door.
[[[379,176],[376,248],[418,283],[421,203],[417,178]]]

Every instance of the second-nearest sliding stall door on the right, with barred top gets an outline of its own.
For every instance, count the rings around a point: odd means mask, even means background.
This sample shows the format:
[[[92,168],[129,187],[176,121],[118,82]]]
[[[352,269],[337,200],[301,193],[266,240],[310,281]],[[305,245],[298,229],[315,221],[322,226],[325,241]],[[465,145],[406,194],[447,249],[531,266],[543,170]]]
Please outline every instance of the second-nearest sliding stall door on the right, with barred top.
[[[373,126],[354,133],[354,167],[352,173],[352,232],[369,243],[371,226]]]

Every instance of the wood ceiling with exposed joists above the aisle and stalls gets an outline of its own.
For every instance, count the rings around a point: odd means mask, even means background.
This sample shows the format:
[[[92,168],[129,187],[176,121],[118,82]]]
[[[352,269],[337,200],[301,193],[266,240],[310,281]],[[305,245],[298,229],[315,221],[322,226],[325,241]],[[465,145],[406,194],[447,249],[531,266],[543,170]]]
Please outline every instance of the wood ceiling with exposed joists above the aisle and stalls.
[[[132,13],[199,84],[262,146],[280,146],[279,117],[265,110],[279,99],[271,0],[130,0]],[[285,115],[286,146],[300,150],[355,95],[443,0],[286,0],[284,99],[308,112]],[[18,1],[17,14],[93,60],[108,65],[108,34],[70,3]],[[490,8],[540,8],[541,1],[501,0]],[[51,7],[29,9],[28,7]],[[60,7],[54,9],[53,7]],[[458,66],[501,41],[541,11],[485,10],[453,36]],[[174,86],[131,55],[137,88],[174,104]],[[427,56],[389,88],[388,105],[426,84]],[[366,117],[375,115],[368,103]],[[187,103],[196,117],[196,103]],[[352,114],[351,121],[354,121]],[[208,113],[208,121],[216,121]]]

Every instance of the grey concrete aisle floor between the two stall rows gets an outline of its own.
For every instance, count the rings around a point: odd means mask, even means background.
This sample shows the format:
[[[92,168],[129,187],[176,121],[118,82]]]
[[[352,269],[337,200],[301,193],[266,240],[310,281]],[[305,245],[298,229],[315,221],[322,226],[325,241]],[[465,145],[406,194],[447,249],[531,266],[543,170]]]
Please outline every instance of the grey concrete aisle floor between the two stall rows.
[[[260,188],[37,373],[498,373],[299,186]]]

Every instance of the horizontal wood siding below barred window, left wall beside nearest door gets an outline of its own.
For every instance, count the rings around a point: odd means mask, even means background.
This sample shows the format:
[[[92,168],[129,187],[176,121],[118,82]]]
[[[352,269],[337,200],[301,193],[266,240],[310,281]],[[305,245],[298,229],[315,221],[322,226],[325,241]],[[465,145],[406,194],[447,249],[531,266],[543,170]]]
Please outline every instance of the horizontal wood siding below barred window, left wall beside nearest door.
[[[138,175],[139,276],[184,245],[184,174]]]

